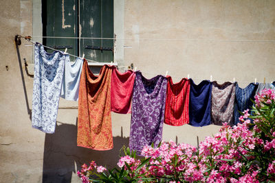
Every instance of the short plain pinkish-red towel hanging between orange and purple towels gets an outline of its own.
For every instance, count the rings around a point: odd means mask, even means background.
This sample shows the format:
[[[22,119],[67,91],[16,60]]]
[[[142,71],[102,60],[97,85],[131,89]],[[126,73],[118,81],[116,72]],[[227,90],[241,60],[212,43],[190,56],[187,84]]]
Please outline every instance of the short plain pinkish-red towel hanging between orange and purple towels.
[[[111,76],[111,111],[120,114],[131,113],[135,73],[131,70],[120,73],[113,69]]]

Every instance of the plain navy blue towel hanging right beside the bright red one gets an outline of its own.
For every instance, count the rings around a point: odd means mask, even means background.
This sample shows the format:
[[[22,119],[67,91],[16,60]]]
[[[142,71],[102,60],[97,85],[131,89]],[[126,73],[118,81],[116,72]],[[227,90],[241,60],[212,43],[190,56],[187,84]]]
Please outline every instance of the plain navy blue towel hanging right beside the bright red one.
[[[189,125],[202,127],[211,123],[212,82],[195,84],[190,79]]]

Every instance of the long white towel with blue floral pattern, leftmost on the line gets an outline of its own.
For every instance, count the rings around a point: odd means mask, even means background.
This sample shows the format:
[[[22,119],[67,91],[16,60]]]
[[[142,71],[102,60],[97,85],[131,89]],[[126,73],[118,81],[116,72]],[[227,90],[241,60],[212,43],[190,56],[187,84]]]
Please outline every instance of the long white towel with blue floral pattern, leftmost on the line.
[[[65,58],[59,51],[47,53],[42,45],[35,45],[32,127],[48,134],[56,127]]]

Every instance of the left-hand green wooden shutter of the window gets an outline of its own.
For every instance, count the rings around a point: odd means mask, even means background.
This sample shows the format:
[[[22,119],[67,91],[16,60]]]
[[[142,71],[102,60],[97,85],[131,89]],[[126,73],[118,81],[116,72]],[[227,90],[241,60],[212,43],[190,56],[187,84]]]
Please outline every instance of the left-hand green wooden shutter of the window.
[[[77,37],[77,8],[77,0],[43,0],[43,12],[46,12],[46,16],[43,13],[43,36]],[[43,44],[56,49],[71,46],[72,49],[67,49],[67,52],[78,55],[77,39],[44,38]]]

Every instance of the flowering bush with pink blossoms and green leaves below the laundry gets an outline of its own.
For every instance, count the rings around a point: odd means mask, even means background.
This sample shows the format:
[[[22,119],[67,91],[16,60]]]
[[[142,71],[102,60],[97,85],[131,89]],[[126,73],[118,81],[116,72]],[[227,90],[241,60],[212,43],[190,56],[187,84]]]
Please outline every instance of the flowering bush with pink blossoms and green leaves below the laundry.
[[[234,127],[224,123],[199,148],[163,142],[157,148],[144,147],[142,160],[128,148],[118,162],[120,169],[106,174],[91,162],[90,167],[83,164],[78,175],[83,182],[274,182],[274,90],[256,95],[252,114],[245,110],[240,121]]]

